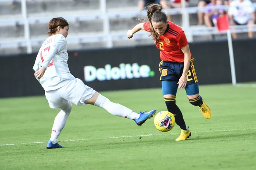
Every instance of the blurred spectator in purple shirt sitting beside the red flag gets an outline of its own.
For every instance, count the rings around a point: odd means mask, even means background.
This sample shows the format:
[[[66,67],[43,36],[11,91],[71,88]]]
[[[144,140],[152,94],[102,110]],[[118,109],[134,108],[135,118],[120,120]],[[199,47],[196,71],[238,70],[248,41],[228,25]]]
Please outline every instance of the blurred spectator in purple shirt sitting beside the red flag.
[[[218,7],[218,9],[211,9],[211,7]],[[204,13],[204,23],[207,27],[216,25],[216,19],[224,14],[224,8],[221,0],[210,0],[210,3],[206,5],[206,11]]]

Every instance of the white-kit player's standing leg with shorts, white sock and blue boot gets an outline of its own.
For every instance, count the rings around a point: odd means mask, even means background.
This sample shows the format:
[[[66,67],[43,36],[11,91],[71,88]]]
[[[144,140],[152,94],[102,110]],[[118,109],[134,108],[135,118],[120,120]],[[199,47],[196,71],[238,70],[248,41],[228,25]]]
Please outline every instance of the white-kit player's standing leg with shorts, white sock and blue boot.
[[[66,125],[67,118],[72,110],[72,104],[71,102],[62,99],[58,95],[58,90],[46,92],[45,96],[48,99],[50,108],[61,109],[61,111],[57,114],[57,116],[54,119],[54,123],[52,126],[52,134],[47,144],[47,149],[60,148],[62,146],[57,142],[58,136],[60,135],[61,130]]]

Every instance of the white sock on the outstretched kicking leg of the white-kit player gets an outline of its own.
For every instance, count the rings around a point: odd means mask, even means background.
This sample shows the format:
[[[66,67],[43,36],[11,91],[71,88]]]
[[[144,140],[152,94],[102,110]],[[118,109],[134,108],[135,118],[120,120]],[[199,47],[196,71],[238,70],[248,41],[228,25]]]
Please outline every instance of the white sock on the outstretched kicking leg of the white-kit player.
[[[108,98],[102,96],[101,94],[99,94],[94,105],[104,108],[106,111],[115,116],[122,116],[128,119],[137,119],[140,117],[140,114],[133,112],[131,109],[126,108],[123,105],[111,102]]]

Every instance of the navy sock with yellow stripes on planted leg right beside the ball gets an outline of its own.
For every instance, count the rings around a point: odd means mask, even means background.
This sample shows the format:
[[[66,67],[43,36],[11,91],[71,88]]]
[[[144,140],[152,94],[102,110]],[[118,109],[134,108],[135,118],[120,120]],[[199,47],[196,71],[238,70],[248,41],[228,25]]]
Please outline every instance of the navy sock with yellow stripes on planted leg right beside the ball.
[[[175,115],[175,123],[179,125],[181,129],[187,130],[180,108],[176,105],[176,97],[166,97],[164,98],[164,102],[166,103],[167,110]]]

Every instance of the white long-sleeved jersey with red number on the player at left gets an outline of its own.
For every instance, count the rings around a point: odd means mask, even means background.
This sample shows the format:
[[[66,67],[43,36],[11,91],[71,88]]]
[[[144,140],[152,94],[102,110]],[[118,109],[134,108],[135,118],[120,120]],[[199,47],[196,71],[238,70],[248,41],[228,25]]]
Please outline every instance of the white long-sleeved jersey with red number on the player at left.
[[[56,90],[75,79],[70,73],[67,60],[66,38],[61,34],[48,37],[41,46],[33,67],[35,71],[42,66],[47,68],[44,76],[38,79],[45,91]]]

